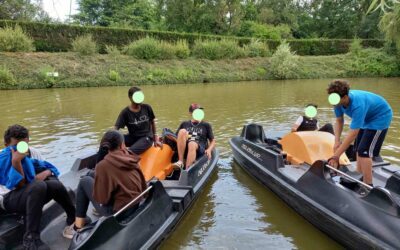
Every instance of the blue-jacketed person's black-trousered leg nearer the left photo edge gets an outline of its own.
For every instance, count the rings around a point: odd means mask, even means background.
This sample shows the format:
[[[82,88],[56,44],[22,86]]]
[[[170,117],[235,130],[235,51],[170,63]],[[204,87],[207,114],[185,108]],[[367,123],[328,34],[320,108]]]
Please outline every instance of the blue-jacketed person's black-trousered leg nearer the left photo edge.
[[[25,215],[26,237],[39,237],[42,209],[46,204],[47,186],[43,181],[34,181],[25,187],[11,191],[4,198],[6,211]]]

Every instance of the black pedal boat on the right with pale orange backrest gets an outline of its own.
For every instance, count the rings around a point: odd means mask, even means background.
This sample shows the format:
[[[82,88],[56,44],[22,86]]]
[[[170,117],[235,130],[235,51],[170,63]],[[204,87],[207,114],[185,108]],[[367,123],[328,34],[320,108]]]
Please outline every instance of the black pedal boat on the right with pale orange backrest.
[[[345,247],[399,248],[400,167],[374,159],[372,188],[359,181],[355,162],[346,155],[340,172],[327,165],[333,144],[333,135],[319,131],[266,138],[257,124],[244,126],[230,140],[243,169]]]

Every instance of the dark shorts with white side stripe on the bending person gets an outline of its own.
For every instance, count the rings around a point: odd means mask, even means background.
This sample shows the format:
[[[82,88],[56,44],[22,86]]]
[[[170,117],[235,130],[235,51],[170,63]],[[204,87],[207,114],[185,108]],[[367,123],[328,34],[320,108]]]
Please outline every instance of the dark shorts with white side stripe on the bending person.
[[[387,130],[360,129],[354,143],[357,155],[368,158],[379,156]]]

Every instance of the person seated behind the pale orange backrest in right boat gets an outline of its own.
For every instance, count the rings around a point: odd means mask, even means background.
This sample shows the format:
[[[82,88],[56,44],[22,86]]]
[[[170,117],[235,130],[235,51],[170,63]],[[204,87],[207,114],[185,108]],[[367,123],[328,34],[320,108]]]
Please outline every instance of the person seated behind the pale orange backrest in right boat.
[[[306,109],[309,107],[313,107],[315,108],[315,110],[318,108],[316,104],[312,103],[307,104]],[[320,128],[318,120],[315,117],[308,117],[307,112],[305,115],[299,116],[296,122],[292,126],[292,132],[315,131],[315,130],[325,131],[334,134],[332,124],[327,123]]]

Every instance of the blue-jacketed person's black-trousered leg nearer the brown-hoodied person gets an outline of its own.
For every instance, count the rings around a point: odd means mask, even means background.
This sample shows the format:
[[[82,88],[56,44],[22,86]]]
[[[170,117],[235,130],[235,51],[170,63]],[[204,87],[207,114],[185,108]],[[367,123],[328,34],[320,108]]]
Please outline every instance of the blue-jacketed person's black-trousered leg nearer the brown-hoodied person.
[[[75,220],[75,206],[65,186],[57,179],[51,178],[45,181],[47,185],[47,196],[54,199],[67,214],[67,224],[71,225]]]

